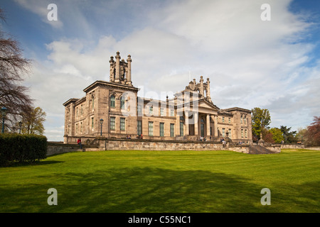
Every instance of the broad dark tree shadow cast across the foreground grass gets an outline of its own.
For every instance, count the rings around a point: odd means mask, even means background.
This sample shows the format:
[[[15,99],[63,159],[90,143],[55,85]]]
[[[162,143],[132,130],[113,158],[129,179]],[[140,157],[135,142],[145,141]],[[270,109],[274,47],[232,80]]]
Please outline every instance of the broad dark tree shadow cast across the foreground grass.
[[[58,191],[58,206],[47,204],[47,191],[52,187]],[[263,187],[220,172],[150,167],[106,169],[55,175],[51,184],[0,187],[0,211],[286,212],[282,206],[260,204]],[[309,187],[312,189],[316,184]],[[286,194],[278,196],[284,201],[289,199]]]

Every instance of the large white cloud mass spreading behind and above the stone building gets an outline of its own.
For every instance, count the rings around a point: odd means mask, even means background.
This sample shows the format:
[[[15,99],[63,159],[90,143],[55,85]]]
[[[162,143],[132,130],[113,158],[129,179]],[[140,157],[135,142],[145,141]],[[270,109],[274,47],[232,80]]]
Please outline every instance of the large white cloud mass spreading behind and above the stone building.
[[[299,41],[310,24],[288,11],[289,2],[269,1],[271,21],[260,20],[260,6],[265,2],[256,0],[167,1],[158,3],[159,8],[148,5],[149,11],[142,10],[144,16],[138,14],[143,6],[137,4],[132,6],[132,18],[126,17],[127,8],[122,13],[127,1],[112,1],[106,9],[92,6],[92,15],[121,15],[108,21],[114,33],[97,33],[106,28],[103,20],[89,22],[90,17],[82,13],[83,4],[65,4],[60,12],[74,10],[70,13],[74,28],[63,21],[64,29],[76,28],[80,34],[82,28],[83,36],[60,37],[46,45],[48,59],[38,60],[30,80],[33,96],[49,113],[60,113],[63,119],[63,102],[84,96],[82,89],[97,79],[108,81],[110,56],[119,51],[124,59],[132,55],[133,84],[144,86],[144,92],[160,96],[161,92],[180,91],[188,84],[189,73],[197,82],[202,75],[210,78],[211,97],[220,108],[267,107],[275,122],[285,122],[281,125],[290,126],[288,115],[292,113],[299,116],[295,122],[305,123],[309,116],[302,119],[302,113],[320,111],[316,87],[320,64],[305,66],[314,45]],[[19,3],[34,13],[44,13],[26,6],[26,1]],[[62,14],[61,18],[68,17]],[[136,26],[129,28],[124,21]],[[303,111],[297,111],[302,106]]]

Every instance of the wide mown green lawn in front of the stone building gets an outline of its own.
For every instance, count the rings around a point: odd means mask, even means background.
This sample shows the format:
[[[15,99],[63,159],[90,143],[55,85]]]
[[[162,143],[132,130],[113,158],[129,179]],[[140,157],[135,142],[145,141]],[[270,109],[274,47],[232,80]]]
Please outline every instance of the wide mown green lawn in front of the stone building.
[[[0,212],[319,212],[319,201],[320,151],[75,152],[0,167]]]

